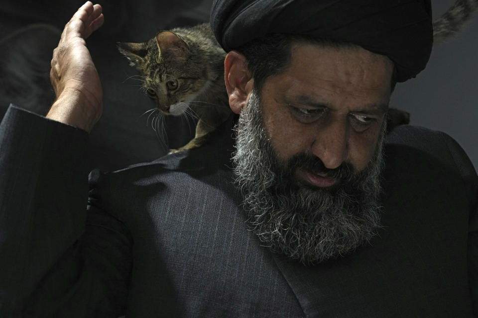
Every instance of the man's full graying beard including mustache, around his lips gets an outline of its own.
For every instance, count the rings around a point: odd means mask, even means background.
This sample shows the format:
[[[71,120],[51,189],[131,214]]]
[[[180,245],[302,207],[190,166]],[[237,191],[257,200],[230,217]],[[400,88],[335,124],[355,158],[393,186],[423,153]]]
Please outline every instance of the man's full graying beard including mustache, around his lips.
[[[252,92],[235,126],[236,184],[248,223],[261,243],[304,264],[343,256],[368,242],[380,228],[380,175],[385,127],[376,151],[361,171],[351,164],[329,170],[317,157],[277,158]],[[334,189],[309,188],[295,180],[298,167],[342,179]]]

